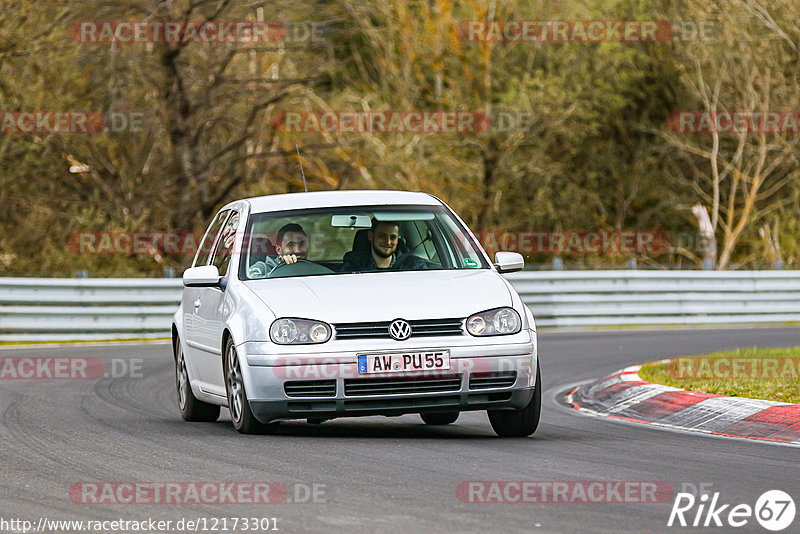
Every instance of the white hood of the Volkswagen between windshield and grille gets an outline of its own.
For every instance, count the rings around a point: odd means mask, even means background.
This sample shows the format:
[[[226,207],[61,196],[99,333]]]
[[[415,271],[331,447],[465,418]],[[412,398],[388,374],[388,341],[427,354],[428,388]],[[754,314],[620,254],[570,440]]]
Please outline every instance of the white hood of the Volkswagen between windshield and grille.
[[[505,282],[488,269],[306,276],[245,285],[277,317],[329,323],[463,318],[512,304]]]

